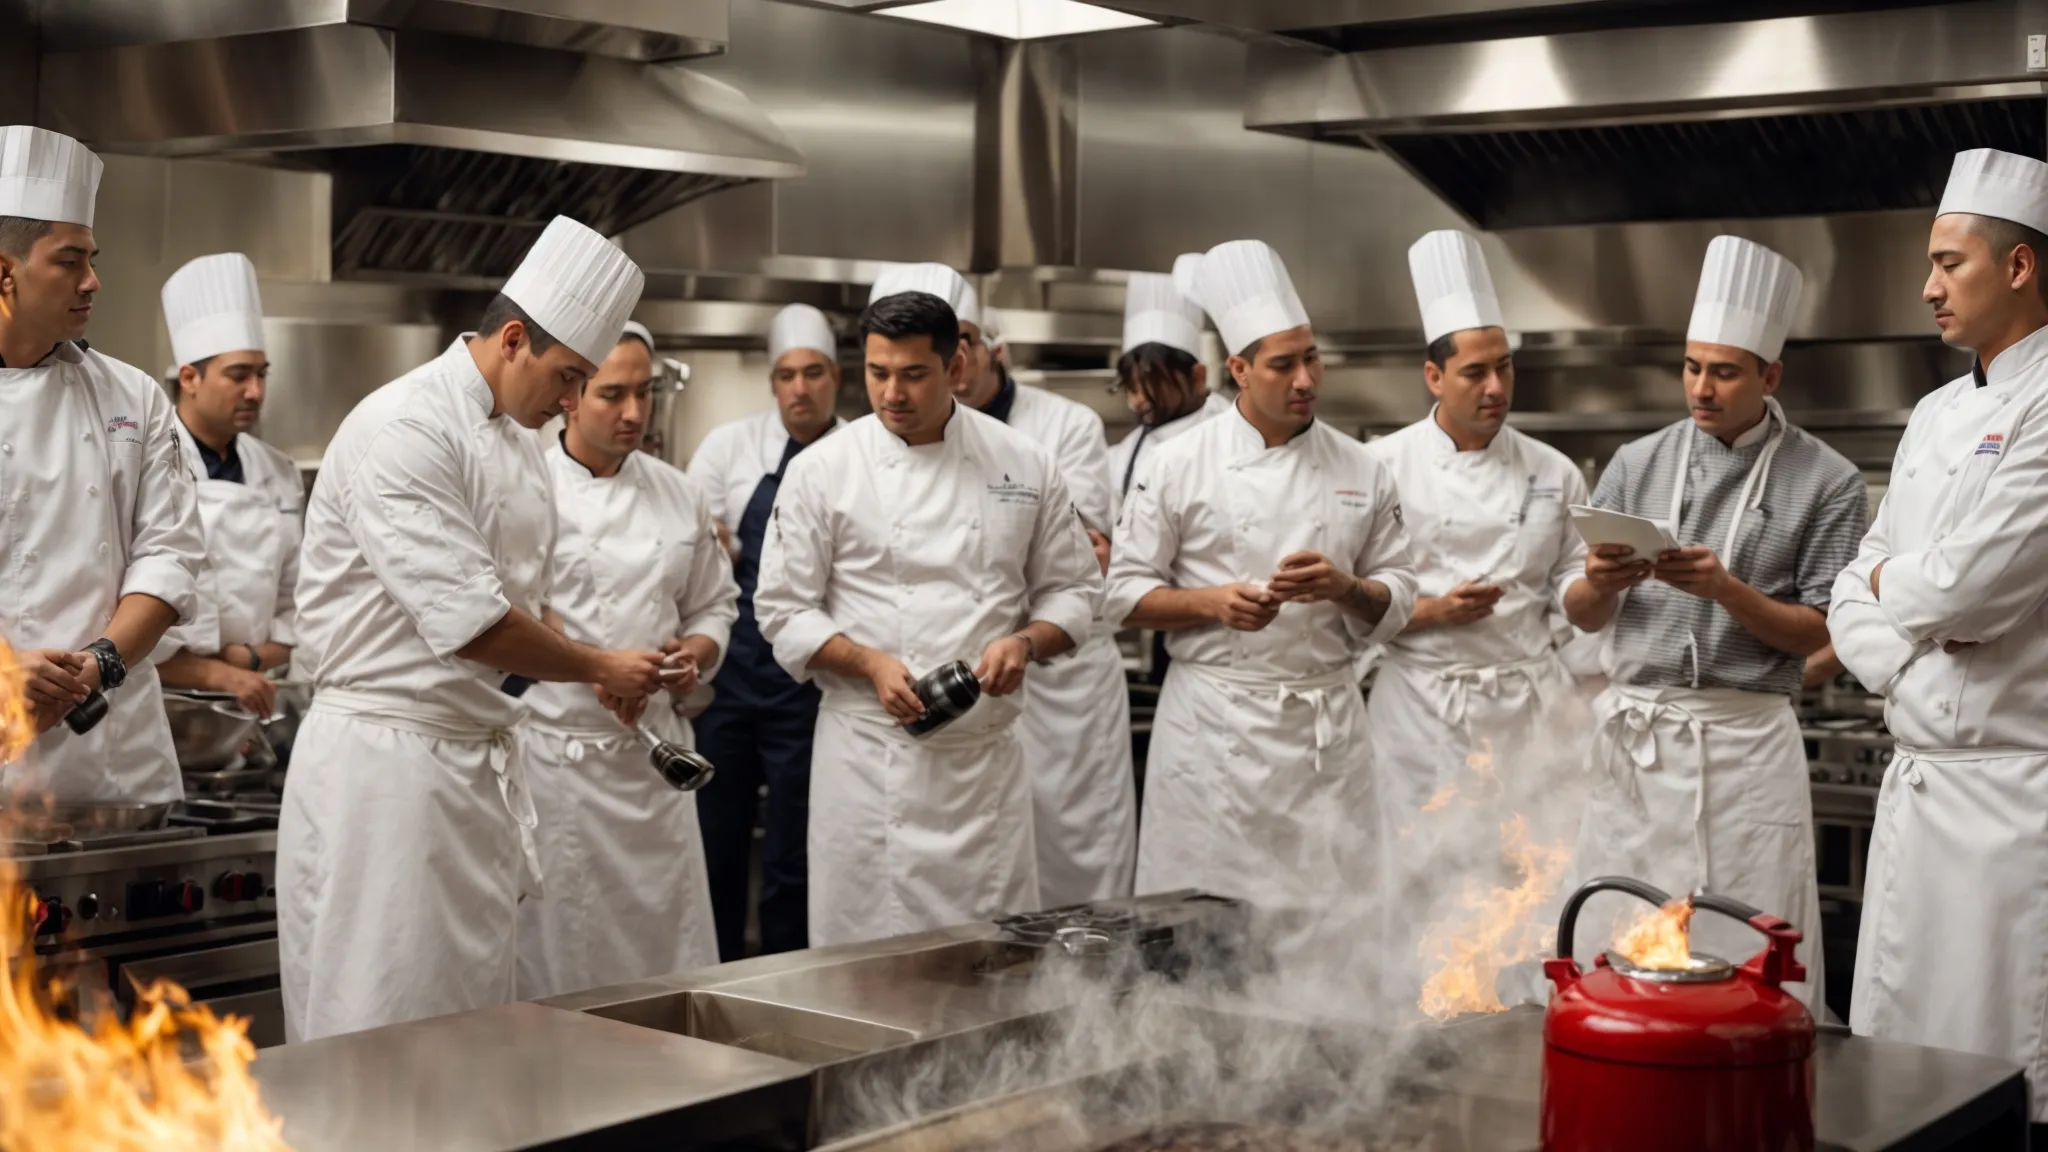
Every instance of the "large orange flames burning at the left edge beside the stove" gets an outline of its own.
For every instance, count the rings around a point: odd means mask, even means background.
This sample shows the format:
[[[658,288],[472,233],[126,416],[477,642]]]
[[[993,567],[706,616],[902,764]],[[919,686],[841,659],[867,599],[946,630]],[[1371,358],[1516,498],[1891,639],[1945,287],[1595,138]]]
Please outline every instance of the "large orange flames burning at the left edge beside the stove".
[[[0,642],[0,763],[35,738],[14,652]],[[6,828],[0,828],[0,840]],[[80,1027],[70,990],[37,972],[41,900],[0,857],[0,1148],[6,1152],[289,1152],[250,1076],[248,1023],[170,982]]]

